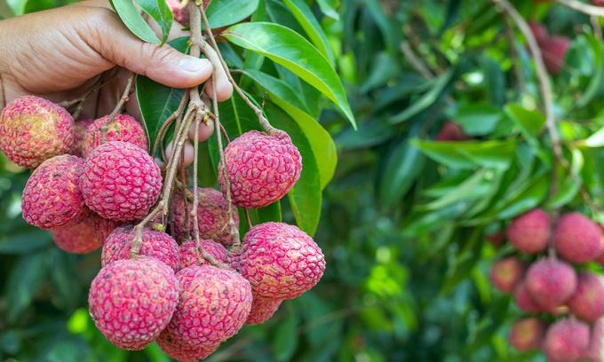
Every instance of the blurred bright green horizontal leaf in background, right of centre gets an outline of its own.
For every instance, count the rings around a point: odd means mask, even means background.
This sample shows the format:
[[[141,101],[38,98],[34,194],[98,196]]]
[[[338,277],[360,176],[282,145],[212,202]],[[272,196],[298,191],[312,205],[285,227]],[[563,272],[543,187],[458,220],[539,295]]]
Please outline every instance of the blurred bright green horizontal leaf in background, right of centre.
[[[489,169],[505,170],[513,161],[517,145],[515,139],[503,141],[470,141],[470,142],[429,142],[413,140],[426,156],[454,169]]]

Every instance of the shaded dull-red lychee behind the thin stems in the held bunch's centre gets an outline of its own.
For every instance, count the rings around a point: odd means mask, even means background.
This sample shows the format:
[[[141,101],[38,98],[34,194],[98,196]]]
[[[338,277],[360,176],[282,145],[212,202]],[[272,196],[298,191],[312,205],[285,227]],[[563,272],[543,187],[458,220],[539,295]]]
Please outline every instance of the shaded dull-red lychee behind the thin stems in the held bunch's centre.
[[[195,220],[190,216],[193,211],[193,190],[188,190],[191,197],[187,197],[187,209],[189,214],[189,235],[195,235]],[[199,236],[202,239],[211,239],[222,244],[225,248],[233,245],[233,237],[228,224],[228,202],[224,195],[213,188],[197,188],[199,205],[197,206],[197,225]],[[182,193],[174,195],[174,237],[182,239],[185,236],[186,210]],[[239,228],[239,214],[233,208],[233,220]]]

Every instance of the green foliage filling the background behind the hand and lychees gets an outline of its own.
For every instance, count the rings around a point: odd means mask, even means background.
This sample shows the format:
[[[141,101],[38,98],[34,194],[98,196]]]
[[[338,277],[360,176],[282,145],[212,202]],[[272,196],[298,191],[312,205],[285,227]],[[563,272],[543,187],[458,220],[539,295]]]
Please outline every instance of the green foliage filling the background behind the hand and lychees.
[[[252,20],[271,24],[234,26],[253,45],[227,35],[232,43],[221,43],[223,53],[242,69],[238,82],[251,96],[267,92],[265,110],[275,126],[304,130],[306,138],[294,142],[306,145],[305,160],[321,160],[298,183],[303,197],[295,191],[252,217],[280,217],[282,210],[284,221],[316,229],[328,267],[317,287],[282,303],[264,325],[243,327],[208,360],[543,361],[506,342],[521,312],[490,286],[488,270],[511,250],[493,248],[483,235],[544,202],[591,211],[561,167],[555,170],[559,193],[548,201],[552,155],[520,33],[506,35],[501,14],[486,0],[256,3]],[[61,4],[8,0],[0,12],[8,17]],[[560,5],[513,4],[552,34],[573,39],[560,75],[552,77],[555,111],[565,156],[601,204],[601,36],[586,16]],[[263,34],[314,47],[322,55],[311,62],[318,70],[292,73],[265,61],[277,56],[253,40]],[[409,49],[417,59],[409,58]],[[317,62],[335,67],[352,109]],[[146,86],[158,87],[139,78],[143,104]],[[178,106],[179,96],[172,100]],[[150,135],[162,122],[149,116],[153,111],[143,109]],[[237,96],[220,112],[232,138],[258,128]],[[447,120],[473,139],[434,142]],[[338,150],[335,174],[331,139]],[[216,147],[215,138],[202,147],[204,185],[216,185]],[[139,352],[117,350],[94,327],[86,298],[99,252],[68,255],[49,232],[28,226],[20,216],[28,172],[2,157],[0,360],[169,360],[155,343]]]

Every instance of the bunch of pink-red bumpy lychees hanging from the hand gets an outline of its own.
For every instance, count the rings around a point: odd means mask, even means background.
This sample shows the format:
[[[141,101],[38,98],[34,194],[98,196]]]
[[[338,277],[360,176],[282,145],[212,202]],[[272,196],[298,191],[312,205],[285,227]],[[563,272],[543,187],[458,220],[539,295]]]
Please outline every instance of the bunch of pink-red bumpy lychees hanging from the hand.
[[[201,187],[175,192],[168,233],[161,215],[138,226],[162,189],[145,129],[125,114],[106,123],[107,117],[74,122],[62,107],[30,96],[0,115],[0,148],[34,169],[23,192],[25,220],[51,230],[69,252],[102,245],[89,304],[108,341],[125,350],[156,341],[172,358],[203,359],[244,324],[265,322],[283,300],[321,279],[322,251],[298,227],[257,224],[242,244],[227,227],[239,224],[227,189],[234,206],[261,208],[298,181],[302,159],[287,133],[250,131],[235,138],[225,149],[225,167],[219,165],[223,193]],[[197,224],[191,216],[195,193]],[[201,240],[191,239],[196,231]]]

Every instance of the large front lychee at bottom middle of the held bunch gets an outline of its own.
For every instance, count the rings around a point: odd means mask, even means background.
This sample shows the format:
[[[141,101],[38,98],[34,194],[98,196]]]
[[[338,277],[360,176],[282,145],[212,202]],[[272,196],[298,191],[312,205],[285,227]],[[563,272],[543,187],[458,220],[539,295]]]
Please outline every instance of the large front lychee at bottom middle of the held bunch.
[[[201,349],[236,334],[251,308],[250,283],[236,271],[189,266],[176,274],[179,304],[160,338]]]

